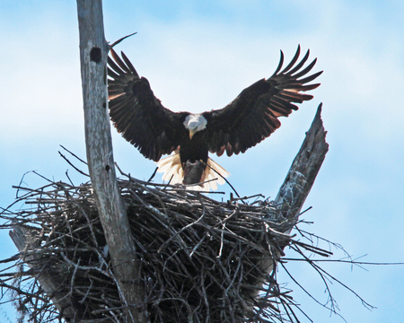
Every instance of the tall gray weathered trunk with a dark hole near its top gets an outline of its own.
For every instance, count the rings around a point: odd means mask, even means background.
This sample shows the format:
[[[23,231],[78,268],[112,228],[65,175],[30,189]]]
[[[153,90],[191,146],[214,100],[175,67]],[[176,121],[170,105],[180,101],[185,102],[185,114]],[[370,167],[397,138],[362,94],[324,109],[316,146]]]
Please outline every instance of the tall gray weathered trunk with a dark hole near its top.
[[[83,85],[85,144],[92,188],[110,249],[123,304],[143,300],[136,247],[115,174],[108,114],[106,62],[101,0],[77,0]],[[128,322],[142,322],[141,310],[129,310]]]

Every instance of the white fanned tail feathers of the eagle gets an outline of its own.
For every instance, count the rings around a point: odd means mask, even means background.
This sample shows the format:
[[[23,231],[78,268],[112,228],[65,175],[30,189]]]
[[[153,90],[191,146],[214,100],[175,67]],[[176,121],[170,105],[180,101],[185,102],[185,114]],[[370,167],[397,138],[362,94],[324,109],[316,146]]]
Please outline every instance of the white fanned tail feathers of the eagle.
[[[157,167],[157,172],[163,172],[162,180],[167,182],[170,181],[170,184],[182,184],[182,179],[184,179],[184,171],[181,167],[180,153],[178,151],[175,151],[168,157],[162,158],[159,162],[157,162]],[[216,190],[217,184],[223,185],[225,183],[225,180],[219,174],[224,178],[230,176],[230,173],[227,170],[224,170],[224,168],[217,162],[207,158],[207,166],[204,174],[202,175],[202,181],[209,181],[202,185],[193,185],[188,186],[187,188],[207,191],[210,189]]]

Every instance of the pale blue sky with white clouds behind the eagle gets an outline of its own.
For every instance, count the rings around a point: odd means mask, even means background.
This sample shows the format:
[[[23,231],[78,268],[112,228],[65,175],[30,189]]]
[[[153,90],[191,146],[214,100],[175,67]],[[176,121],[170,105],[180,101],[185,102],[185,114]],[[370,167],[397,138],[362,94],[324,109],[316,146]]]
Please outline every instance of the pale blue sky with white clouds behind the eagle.
[[[239,92],[277,67],[298,44],[318,57],[321,87],[282,127],[247,153],[215,158],[232,173],[241,195],[276,196],[323,102],[329,153],[305,206],[304,227],[340,243],[368,262],[404,261],[404,3],[402,1],[104,1],[106,38],[137,35],[117,47],[148,78],[162,104],[193,112],[223,108]],[[2,1],[0,4],[0,205],[13,202],[22,174],[66,180],[75,174],[59,144],[85,157],[75,1]],[[113,130],[113,129],[112,129]],[[115,132],[115,160],[139,179],[154,163]],[[157,178],[160,180],[159,178]],[[32,173],[24,184],[44,182]],[[223,188],[228,192],[228,188]],[[227,196],[225,196],[227,197]],[[0,258],[16,252],[0,232]],[[335,250],[333,250],[335,251]],[[293,254],[288,252],[287,256]],[[344,255],[336,251],[335,258]],[[296,279],[326,301],[315,272],[289,264]],[[348,322],[404,319],[404,266],[327,265],[377,310],[366,310],[347,290],[332,286]],[[288,277],[294,299],[315,322],[343,322],[307,298]],[[13,309],[0,307],[0,320]],[[302,318],[303,319],[303,318]]]

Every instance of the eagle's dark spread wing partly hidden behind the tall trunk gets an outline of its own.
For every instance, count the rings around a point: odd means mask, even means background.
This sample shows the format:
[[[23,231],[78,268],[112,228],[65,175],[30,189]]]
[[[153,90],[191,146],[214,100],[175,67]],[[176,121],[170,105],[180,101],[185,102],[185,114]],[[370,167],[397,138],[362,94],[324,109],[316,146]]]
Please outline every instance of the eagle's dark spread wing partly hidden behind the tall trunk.
[[[180,144],[186,129],[181,118],[162,106],[145,77],[139,77],[124,53],[122,59],[110,49],[108,57],[108,92],[110,118],[119,133],[146,158],[157,162],[162,154],[171,153]]]

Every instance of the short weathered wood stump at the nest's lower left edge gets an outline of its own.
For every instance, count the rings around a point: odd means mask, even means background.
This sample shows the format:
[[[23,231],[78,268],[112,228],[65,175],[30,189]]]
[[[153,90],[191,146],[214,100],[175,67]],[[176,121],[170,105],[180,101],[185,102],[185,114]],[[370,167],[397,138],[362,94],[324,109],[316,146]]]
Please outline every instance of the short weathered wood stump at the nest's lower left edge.
[[[29,230],[18,224],[14,225],[13,230],[9,232],[15,247],[20,251],[24,263],[39,272],[35,277],[40,282],[40,287],[51,297],[59,313],[63,314],[67,322],[75,322],[76,318],[80,317],[80,314],[79,310],[73,306],[70,296],[56,293],[63,279],[44,266],[44,261],[40,254],[38,258],[35,256],[34,251],[40,249],[38,240],[35,240],[36,233],[38,233],[36,230]]]

